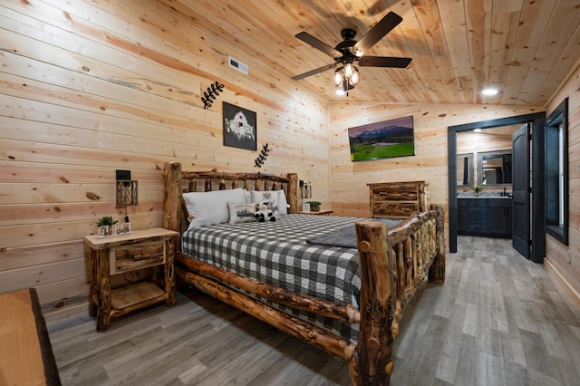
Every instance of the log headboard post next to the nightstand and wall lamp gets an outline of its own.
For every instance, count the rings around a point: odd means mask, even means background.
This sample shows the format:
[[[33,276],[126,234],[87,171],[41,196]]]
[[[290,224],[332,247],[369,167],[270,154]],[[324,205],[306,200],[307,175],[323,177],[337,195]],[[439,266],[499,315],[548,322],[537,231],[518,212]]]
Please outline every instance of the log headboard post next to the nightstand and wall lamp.
[[[180,232],[181,226],[181,164],[165,162],[163,169],[165,198],[163,199],[163,227]]]

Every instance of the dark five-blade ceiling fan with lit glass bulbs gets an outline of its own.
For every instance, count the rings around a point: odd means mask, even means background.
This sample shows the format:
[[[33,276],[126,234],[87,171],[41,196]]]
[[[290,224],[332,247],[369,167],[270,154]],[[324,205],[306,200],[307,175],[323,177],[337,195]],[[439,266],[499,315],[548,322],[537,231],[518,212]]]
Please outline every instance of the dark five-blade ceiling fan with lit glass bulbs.
[[[397,58],[391,56],[364,56],[375,43],[379,42],[382,37],[389,34],[391,30],[402,22],[402,17],[394,12],[386,14],[379,23],[371,28],[371,30],[362,36],[358,42],[354,40],[356,31],[350,28],[345,28],[341,31],[343,41],[336,44],[336,47],[322,42],[313,35],[306,32],[295,34],[295,37],[302,40],[304,43],[312,45],[317,50],[322,51],[334,58],[334,63],[327,64],[315,70],[301,73],[294,76],[292,79],[298,81],[307,76],[314,75],[319,72],[324,72],[334,67],[341,65],[334,72],[334,84],[337,87],[342,87],[343,92],[352,90],[354,85],[359,82],[360,74],[353,63],[358,62],[361,66],[368,67],[395,67],[406,68],[411,63],[411,58]]]

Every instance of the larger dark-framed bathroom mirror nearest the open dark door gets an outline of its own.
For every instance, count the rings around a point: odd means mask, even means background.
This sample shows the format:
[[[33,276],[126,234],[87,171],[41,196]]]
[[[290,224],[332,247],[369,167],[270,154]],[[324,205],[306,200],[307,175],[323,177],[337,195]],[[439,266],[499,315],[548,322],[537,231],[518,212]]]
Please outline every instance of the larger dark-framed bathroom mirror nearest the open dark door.
[[[511,150],[478,153],[478,183],[482,186],[511,185]]]

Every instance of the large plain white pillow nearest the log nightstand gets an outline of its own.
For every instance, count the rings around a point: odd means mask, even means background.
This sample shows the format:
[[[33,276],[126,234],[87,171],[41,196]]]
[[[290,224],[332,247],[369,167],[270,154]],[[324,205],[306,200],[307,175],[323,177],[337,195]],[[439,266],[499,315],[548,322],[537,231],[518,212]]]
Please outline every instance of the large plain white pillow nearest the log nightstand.
[[[205,225],[227,223],[229,221],[227,202],[245,202],[242,188],[183,193],[183,198],[190,219],[188,230]]]

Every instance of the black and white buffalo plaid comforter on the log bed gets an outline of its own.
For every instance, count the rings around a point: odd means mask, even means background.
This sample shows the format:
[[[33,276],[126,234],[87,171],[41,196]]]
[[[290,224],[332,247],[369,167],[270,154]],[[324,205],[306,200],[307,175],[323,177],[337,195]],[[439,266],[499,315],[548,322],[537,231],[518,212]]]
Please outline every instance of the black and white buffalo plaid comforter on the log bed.
[[[219,224],[184,233],[189,256],[262,283],[358,309],[361,289],[358,252],[352,248],[316,246],[306,239],[352,227],[354,217],[285,215],[275,222]],[[256,296],[254,296],[256,297]],[[266,302],[265,299],[260,299]],[[359,326],[267,304],[356,342]]]

